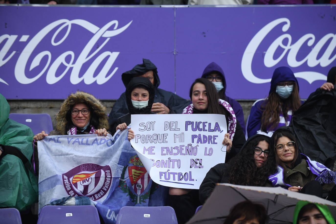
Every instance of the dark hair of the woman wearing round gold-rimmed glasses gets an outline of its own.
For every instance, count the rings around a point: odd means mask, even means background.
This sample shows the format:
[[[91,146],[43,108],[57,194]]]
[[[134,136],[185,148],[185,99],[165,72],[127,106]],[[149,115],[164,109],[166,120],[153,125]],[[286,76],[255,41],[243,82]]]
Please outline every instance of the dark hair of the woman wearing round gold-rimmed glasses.
[[[278,139],[281,138],[281,137],[287,137],[291,141],[295,142],[294,159],[293,159],[293,161],[291,163],[291,167],[293,167],[293,165],[295,164],[296,159],[299,156],[299,144],[296,141],[296,138],[293,135],[293,133],[290,130],[284,129],[284,128],[280,128],[280,129],[276,130],[273,133],[272,137],[271,137],[271,151],[274,151],[273,154],[275,154],[276,166],[280,165],[282,167],[285,167],[285,164],[279,159],[279,156],[277,154],[277,149],[275,148],[275,146],[277,145]]]

